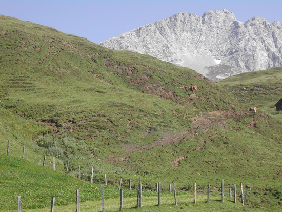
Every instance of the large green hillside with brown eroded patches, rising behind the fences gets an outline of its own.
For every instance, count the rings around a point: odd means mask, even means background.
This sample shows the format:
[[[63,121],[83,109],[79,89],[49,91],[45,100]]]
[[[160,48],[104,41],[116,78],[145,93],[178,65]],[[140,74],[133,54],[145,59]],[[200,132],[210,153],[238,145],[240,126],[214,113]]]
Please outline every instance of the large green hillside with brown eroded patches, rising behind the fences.
[[[226,179],[228,187],[243,182],[249,189],[249,208],[282,204],[282,122],[245,112],[232,90],[148,55],[11,17],[0,16],[0,38],[0,145],[4,156],[10,140],[10,164],[26,145],[27,162],[42,166],[47,154],[45,169],[55,157],[56,172],[64,172],[70,157],[69,174],[77,177],[81,165],[83,181],[91,166],[95,183],[107,173],[114,187],[120,178],[142,177],[148,189],[161,181],[191,190],[196,182],[204,191]],[[10,168],[1,175],[11,175]],[[9,192],[21,195],[16,186]],[[12,209],[4,200],[3,209]]]

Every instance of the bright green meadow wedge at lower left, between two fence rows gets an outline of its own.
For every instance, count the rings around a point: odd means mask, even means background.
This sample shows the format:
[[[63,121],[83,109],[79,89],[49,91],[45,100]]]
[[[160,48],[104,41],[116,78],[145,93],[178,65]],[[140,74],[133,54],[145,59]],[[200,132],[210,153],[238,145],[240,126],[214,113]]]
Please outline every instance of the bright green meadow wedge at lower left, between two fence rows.
[[[100,200],[100,185],[80,181],[67,174],[37,166],[22,160],[0,154],[0,210],[17,210],[17,195],[21,195],[22,210],[50,206],[55,197],[56,206],[76,202],[76,189],[80,201]],[[125,190],[125,197],[134,191]],[[135,195],[135,194],[134,194]],[[118,189],[105,186],[105,199],[118,198]]]

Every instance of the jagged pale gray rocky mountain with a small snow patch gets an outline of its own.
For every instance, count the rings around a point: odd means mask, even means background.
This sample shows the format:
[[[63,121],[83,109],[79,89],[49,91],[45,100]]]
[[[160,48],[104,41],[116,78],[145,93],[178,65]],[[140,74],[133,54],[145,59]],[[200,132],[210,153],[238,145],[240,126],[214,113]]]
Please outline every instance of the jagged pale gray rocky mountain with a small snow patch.
[[[228,10],[207,11],[202,17],[180,12],[100,45],[149,54],[212,81],[282,66],[282,25],[257,16],[244,24]]]

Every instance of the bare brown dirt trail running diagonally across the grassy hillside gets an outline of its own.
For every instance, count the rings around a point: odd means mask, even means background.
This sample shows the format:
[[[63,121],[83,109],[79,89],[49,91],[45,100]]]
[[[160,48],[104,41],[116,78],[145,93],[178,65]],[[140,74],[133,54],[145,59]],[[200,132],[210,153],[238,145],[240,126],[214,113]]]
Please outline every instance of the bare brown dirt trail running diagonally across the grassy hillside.
[[[226,113],[225,115],[229,116],[230,114]],[[115,161],[122,162],[130,155],[130,153],[143,152],[143,151],[146,151],[152,148],[153,146],[162,146],[162,145],[178,143],[178,142],[183,141],[183,139],[185,138],[194,137],[200,131],[209,130],[209,128],[212,126],[223,126],[226,122],[226,119],[223,118],[220,112],[217,112],[217,113],[214,112],[214,113],[208,113],[202,116],[196,116],[196,117],[193,117],[191,120],[192,120],[192,123],[191,123],[192,127],[189,129],[189,131],[183,131],[177,134],[173,134],[171,132],[164,132],[162,139],[155,140],[151,144],[148,144],[148,145],[137,145],[137,144],[125,143],[123,144],[123,148],[125,148],[126,150],[125,155],[119,156],[119,157],[110,155],[108,158],[104,159],[104,161],[105,162],[115,162]],[[201,141],[201,142],[202,142],[202,145],[198,147],[197,149],[194,149],[193,151],[199,151],[205,147],[206,145],[205,141]],[[179,161],[182,159],[184,159],[184,157],[181,157],[173,161],[173,163],[175,164],[174,168],[178,166]]]

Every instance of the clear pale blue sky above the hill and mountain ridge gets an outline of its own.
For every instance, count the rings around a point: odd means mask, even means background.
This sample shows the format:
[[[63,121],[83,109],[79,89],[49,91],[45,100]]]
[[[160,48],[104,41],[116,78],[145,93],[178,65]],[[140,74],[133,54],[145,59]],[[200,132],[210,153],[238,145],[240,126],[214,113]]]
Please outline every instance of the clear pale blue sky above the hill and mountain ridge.
[[[282,0],[0,0],[0,14],[53,27],[99,43],[178,12],[202,16],[232,11],[238,21],[253,16],[282,23]]]

